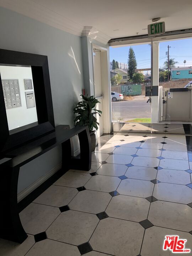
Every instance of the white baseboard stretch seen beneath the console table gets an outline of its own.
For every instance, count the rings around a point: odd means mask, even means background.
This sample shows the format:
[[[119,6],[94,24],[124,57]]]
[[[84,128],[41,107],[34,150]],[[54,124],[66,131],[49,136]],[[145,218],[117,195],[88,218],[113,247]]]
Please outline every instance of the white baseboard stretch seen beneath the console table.
[[[59,171],[62,167],[62,163],[56,165],[52,170],[47,172],[45,175],[40,177],[38,180],[33,182],[29,187],[22,190],[17,194],[17,202],[20,202],[23,198],[25,198],[28,194],[30,194],[33,190],[35,190],[38,186],[40,186],[44,181],[46,181],[49,177]]]

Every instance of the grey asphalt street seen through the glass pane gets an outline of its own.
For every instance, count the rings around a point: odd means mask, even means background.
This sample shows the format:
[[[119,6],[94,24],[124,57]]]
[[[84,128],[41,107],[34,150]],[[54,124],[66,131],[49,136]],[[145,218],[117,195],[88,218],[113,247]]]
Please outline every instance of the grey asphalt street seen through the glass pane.
[[[116,101],[112,103],[112,119],[150,118],[151,105],[146,103],[148,98],[142,100]],[[124,120],[125,121],[125,120]]]

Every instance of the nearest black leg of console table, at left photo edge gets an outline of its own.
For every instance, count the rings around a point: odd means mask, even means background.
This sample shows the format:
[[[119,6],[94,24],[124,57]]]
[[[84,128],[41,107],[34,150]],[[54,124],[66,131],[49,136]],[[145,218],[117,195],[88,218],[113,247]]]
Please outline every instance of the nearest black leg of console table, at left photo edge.
[[[27,234],[23,229],[17,207],[19,167],[1,165],[0,238],[22,243]]]

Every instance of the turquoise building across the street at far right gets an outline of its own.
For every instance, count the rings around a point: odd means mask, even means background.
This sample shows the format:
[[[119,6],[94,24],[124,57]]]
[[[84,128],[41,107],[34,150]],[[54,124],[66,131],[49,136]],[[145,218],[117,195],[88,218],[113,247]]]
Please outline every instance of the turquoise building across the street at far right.
[[[172,68],[171,78],[172,78],[172,81],[175,81],[178,79],[192,80],[192,66],[182,67],[182,68]]]

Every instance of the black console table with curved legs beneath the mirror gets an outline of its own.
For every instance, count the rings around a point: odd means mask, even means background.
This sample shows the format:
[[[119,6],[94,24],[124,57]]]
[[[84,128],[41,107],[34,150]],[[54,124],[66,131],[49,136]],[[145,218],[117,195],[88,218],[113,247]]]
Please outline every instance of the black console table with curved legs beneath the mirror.
[[[70,139],[75,135],[79,137],[80,158],[71,156]],[[0,238],[18,243],[22,243],[27,238],[20,221],[20,209],[17,203],[20,167],[60,144],[62,145],[62,174],[69,169],[90,170],[91,141],[88,127],[77,126],[67,129],[66,126],[60,125],[54,132],[6,152],[4,155],[11,159],[0,165]]]

